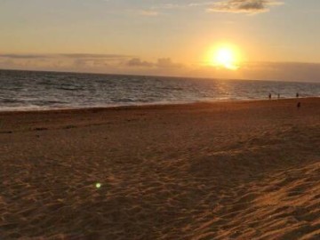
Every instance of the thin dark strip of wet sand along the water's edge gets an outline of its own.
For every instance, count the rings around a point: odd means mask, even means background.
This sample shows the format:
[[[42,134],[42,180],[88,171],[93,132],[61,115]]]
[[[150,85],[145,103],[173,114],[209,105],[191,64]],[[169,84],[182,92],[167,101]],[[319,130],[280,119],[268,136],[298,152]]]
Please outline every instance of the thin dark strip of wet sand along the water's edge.
[[[244,102],[264,102],[264,101],[285,101],[285,100],[317,100],[320,99],[318,97],[299,97],[299,98],[280,98],[280,99],[244,99],[244,100],[199,100],[199,101],[190,101],[190,102],[164,102],[164,103],[146,103],[146,104],[132,104],[132,105],[110,105],[110,106],[97,106],[97,107],[71,107],[71,108],[26,108],[26,109],[4,109],[0,108],[0,115],[9,114],[9,113],[41,113],[41,112],[77,112],[77,111],[101,111],[101,110],[115,110],[115,109],[138,109],[138,108],[171,108],[174,106],[193,106],[193,105],[201,105],[201,104],[220,104],[220,103],[244,103]],[[19,107],[18,107],[19,108]]]

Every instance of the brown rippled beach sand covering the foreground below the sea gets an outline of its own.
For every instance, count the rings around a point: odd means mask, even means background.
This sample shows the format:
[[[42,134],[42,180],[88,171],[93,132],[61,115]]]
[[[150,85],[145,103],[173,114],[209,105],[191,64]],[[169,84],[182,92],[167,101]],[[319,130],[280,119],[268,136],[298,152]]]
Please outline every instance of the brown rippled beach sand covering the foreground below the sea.
[[[0,239],[320,239],[299,101],[0,113]]]

